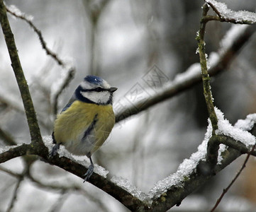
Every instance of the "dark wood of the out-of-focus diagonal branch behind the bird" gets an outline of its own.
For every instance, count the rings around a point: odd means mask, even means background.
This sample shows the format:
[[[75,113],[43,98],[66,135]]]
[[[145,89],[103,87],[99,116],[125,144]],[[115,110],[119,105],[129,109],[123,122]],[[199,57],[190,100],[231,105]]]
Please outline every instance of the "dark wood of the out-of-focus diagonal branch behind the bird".
[[[224,52],[220,54],[218,61],[213,64],[210,69],[208,69],[209,76],[216,76],[225,71],[230,65],[231,61],[235,59],[240,52],[240,49],[242,49],[242,47],[248,42],[255,31],[256,25],[252,25],[245,28],[243,33],[241,33],[238,37],[235,37],[233,43],[227,49],[224,49]],[[136,102],[133,105],[128,105],[127,107],[123,107],[121,110],[118,110],[116,112],[116,123],[143,112],[144,110],[147,110],[160,102],[169,100],[179,93],[196,86],[202,81],[200,69],[193,71],[193,73],[190,71],[191,70],[188,69],[184,73],[179,74],[179,79],[174,78],[174,81],[169,82],[164,88],[156,90],[157,92],[154,95],[151,95],[146,102]]]

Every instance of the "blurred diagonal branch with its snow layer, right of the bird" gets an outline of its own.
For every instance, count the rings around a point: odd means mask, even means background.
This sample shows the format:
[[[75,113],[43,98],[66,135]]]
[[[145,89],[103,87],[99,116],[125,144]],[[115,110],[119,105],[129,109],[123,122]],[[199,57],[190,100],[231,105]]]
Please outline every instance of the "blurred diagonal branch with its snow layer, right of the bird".
[[[210,76],[216,76],[218,73],[221,73],[228,68],[231,61],[233,61],[235,56],[240,52],[240,49],[255,33],[256,25],[246,27],[237,25],[235,28],[231,28],[230,30],[236,30],[236,32],[227,33],[223,38],[223,41],[221,41],[223,46],[219,49],[218,53],[212,52],[209,54],[208,63],[211,67],[208,69],[208,73]],[[227,40],[228,43],[226,42]],[[200,64],[192,64],[187,71],[177,74],[173,81],[169,81],[169,83],[166,83],[162,88],[155,90],[156,92],[151,94],[150,98],[146,102],[135,102],[133,105],[128,105],[127,107],[117,110],[116,122],[120,122],[134,114],[143,112],[160,102],[169,100],[175,95],[179,95],[179,93],[188,90],[200,82]]]

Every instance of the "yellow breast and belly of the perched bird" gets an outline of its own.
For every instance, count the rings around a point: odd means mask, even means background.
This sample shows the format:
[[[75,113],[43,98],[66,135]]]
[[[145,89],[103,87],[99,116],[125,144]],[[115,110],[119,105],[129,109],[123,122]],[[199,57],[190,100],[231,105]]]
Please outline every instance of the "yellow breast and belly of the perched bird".
[[[95,117],[96,121],[89,136],[84,138]],[[75,155],[90,156],[106,141],[114,124],[112,105],[96,105],[77,100],[57,116],[54,126],[55,140]]]

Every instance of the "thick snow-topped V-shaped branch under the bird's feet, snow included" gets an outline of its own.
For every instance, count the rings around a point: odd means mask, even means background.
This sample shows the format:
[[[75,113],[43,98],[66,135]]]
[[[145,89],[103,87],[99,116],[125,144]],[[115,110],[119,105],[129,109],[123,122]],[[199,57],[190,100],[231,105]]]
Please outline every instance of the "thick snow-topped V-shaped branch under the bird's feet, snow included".
[[[109,179],[106,176],[94,173],[90,182],[115,198],[118,196],[117,199],[125,205],[126,202],[123,202],[123,195],[126,195],[128,199],[126,207],[132,211],[165,211],[179,204],[182,199],[223,170],[223,168],[238,158],[242,153],[248,153],[252,143],[255,141],[255,137],[245,131],[252,130],[255,126],[255,114],[248,115],[245,120],[238,120],[235,126],[231,126],[228,120],[224,119],[220,110],[216,109],[216,114],[218,117],[218,131],[216,132],[219,134],[217,136],[221,138],[220,143],[225,143],[227,146],[221,144],[218,149],[217,164],[213,167],[213,170],[209,169],[208,163],[206,162],[208,141],[212,136],[212,126],[211,122],[209,122],[204,141],[198,147],[198,151],[193,153],[189,159],[185,159],[179,165],[177,172],[157,182],[148,194],[141,192],[126,179],[120,177]],[[253,133],[255,134],[255,131]],[[221,136],[223,134],[225,136]],[[232,148],[228,147],[230,143],[234,142],[236,144],[232,144]],[[256,152],[253,151],[252,155],[256,155]],[[79,177],[82,177],[85,172],[83,166],[65,157],[55,158],[50,163],[58,165]],[[109,187],[111,189],[108,189]]]

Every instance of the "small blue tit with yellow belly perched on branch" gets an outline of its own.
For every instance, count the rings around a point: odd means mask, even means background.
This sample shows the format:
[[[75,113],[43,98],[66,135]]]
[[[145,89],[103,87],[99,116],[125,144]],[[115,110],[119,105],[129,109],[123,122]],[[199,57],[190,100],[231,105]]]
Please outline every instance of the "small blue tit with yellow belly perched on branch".
[[[94,172],[92,153],[106,141],[115,124],[112,99],[116,90],[98,76],[86,76],[55,119],[52,132],[55,146],[50,156],[56,155],[60,145],[74,155],[87,155],[91,165],[84,182]]]

